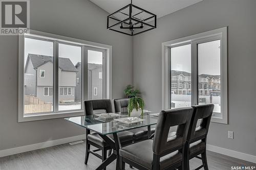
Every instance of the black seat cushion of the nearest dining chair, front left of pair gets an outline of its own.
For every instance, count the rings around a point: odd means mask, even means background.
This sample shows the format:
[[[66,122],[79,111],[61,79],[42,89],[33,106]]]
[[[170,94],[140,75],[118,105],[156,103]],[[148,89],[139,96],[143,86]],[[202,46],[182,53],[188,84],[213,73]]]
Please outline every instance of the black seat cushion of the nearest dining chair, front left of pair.
[[[144,140],[138,143],[128,145],[119,150],[122,157],[133,160],[138,164],[153,168],[153,140]],[[160,158],[160,169],[164,169],[178,161],[182,160],[182,154],[178,151],[170,153]]]

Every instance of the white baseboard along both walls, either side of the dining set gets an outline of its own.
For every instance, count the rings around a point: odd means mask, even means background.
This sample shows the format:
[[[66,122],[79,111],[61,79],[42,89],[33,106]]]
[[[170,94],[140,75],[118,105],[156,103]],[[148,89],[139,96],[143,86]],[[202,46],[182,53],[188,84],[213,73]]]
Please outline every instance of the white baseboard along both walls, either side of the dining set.
[[[46,142],[41,142],[41,143],[25,145],[23,147],[2,150],[2,151],[0,151],[0,157],[19,154],[19,153],[33,151],[33,150],[38,150],[38,149],[42,149],[42,148],[53,147],[55,145],[74,142],[77,140],[83,140],[85,138],[86,138],[86,135],[78,135],[78,136],[73,136],[73,137],[67,137],[67,138],[62,138],[62,139],[56,139],[56,140],[51,140],[51,141],[46,141]],[[229,149],[225,149],[225,148],[221,148],[221,147],[216,147],[215,145],[211,145],[211,144],[207,144],[206,148],[208,151],[212,151],[212,152],[227,155],[230,157],[242,159],[242,160],[245,160],[248,162],[256,163],[256,156],[254,156],[254,155],[249,155],[249,154],[245,154],[242,152],[237,152],[237,151],[233,151],[233,150],[229,150]]]

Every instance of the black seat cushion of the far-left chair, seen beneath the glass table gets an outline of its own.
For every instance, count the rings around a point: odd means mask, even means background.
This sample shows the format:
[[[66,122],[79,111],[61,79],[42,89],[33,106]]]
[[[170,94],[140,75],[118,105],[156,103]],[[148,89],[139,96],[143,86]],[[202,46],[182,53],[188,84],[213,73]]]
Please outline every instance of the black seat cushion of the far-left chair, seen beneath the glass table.
[[[128,131],[123,131],[123,132],[119,132],[117,133],[120,142],[126,142],[126,141],[131,141],[133,140],[133,133],[128,132]],[[114,140],[114,136],[112,134],[108,135],[110,138],[112,138]],[[108,145],[108,143],[106,143],[101,137],[100,135],[98,135],[96,132],[92,132],[90,134],[87,135],[88,140],[101,145],[102,147],[105,147]]]

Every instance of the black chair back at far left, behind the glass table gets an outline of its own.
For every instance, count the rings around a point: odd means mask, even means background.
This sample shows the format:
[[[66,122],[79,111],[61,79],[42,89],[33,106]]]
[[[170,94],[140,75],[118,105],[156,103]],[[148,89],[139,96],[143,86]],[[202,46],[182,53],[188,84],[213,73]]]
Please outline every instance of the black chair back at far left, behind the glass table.
[[[86,116],[93,115],[94,110],[105,110],[106,113],[112,113],[112,102],[111,100],[88,100],[84,101],[84,114]]]

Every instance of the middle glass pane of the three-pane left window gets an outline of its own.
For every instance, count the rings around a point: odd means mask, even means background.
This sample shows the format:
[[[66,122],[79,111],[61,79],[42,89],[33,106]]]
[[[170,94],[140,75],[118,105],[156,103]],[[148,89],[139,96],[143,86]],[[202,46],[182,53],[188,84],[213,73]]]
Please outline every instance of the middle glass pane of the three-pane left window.
[[[81,106],[81,86],[77,84],[77,78],[81,76],[82,46],[67,43],[59,43],[59,87],[63,87],[59,92],[58,110],[80,110]],[[72,95],[72,89],[76,95]],[[80,94],[80,95],[79,95]],[[67,105],[71,103],[72,105]]]

